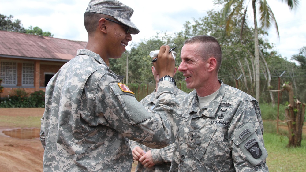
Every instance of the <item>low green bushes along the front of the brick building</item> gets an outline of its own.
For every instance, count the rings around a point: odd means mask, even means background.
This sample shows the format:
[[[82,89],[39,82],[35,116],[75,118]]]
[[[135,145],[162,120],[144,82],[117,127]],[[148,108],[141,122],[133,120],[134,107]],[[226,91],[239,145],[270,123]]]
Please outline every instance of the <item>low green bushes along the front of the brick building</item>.
[[[40,90],[28,96],[24,89],[16,89],[13,95],[0,101],[0,107],[45,107],[45,92]]]

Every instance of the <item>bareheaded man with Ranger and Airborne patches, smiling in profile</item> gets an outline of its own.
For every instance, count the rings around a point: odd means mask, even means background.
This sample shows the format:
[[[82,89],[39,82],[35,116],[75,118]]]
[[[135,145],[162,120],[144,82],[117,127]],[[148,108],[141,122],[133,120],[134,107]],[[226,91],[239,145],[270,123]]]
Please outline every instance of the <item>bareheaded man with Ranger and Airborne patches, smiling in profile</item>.
[[[268,171],[263,122],[256,99],[218,80],[222,54],[207,35],[187,39],[181,51],[187,88],[170,171]]]

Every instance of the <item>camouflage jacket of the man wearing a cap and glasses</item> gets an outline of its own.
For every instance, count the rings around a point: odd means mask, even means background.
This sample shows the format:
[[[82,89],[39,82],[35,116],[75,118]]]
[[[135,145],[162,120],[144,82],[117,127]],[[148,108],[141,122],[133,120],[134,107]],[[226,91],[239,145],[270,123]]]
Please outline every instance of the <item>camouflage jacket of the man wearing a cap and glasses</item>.
[[[45,149],[44,171],[131,171],[128,139],[152,148],[175,140],[181,112],[174,84],[158,85],[152,113],[128,88],[119,87],[102,58],[78,50],[46,87],[46,107],[40,139]]]

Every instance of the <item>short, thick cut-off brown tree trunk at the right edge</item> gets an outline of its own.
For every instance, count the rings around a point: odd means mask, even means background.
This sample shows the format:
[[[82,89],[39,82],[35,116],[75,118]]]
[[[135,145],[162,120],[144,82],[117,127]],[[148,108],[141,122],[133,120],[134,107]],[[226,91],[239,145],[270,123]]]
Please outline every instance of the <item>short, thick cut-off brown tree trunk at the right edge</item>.
[[[291,84],[284,84],[283,88],[289,93],[289,105],[285,109],[285,116],[288,125],[289,143],[288,147],[301,146],[302,131],[305,114],[305,103],[301,103],[299,100],[296,102],[293,99],[293,88]]]

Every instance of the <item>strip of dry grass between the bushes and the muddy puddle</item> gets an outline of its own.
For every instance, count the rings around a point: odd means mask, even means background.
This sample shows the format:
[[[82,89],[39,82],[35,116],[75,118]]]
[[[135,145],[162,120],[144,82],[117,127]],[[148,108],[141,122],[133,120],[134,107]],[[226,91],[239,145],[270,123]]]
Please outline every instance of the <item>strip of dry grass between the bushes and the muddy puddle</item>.
[[[0,116],[0,126],[40,128],[40,118],[41,117]]]

